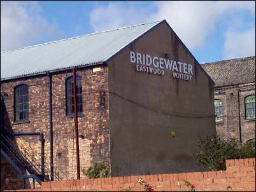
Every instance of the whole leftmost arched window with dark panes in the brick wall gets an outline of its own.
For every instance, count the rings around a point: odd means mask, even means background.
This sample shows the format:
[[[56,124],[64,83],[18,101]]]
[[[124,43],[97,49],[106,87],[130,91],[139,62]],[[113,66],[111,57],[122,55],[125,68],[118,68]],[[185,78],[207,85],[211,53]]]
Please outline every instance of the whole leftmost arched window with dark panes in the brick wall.
[[[14,88],[14,121],[29,119],[29,95],[27,85],[18,85]]]

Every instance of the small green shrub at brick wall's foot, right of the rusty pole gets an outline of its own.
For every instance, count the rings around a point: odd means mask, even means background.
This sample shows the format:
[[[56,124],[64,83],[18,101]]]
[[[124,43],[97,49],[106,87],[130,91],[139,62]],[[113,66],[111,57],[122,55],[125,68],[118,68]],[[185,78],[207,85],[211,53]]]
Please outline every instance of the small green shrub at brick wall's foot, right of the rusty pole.
[[[110,168],[102,162],[94,163],[87,169],[82,169],[84,175],[87,175],[89,179],[111,177]]]

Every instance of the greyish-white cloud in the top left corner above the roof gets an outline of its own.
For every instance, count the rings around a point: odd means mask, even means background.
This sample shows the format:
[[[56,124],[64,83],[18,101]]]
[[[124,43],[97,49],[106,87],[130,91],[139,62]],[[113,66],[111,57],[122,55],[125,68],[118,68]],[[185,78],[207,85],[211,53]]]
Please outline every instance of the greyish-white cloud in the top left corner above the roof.
[[[21,48],[62,36],[43,18],[36,1],[1,1],[1,51]]]

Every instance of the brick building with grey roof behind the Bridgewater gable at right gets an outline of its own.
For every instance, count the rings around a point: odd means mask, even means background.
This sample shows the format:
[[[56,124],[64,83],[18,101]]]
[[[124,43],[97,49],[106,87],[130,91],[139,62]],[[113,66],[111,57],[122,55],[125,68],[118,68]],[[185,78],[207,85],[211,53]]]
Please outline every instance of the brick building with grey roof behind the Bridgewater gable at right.
[[[255,56],[202,66],[215,81],[217,134],[240,142],[255,139]]]

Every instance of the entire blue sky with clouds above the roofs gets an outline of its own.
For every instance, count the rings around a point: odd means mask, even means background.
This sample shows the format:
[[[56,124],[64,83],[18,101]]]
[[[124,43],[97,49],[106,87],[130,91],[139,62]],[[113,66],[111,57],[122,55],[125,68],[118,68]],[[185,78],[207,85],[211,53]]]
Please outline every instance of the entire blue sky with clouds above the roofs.
[[[1,51],[163,19],[201,63],[255,55],[255,1],[1,1]]]

